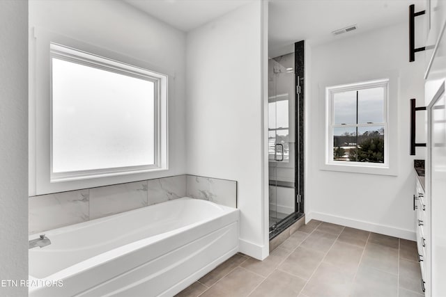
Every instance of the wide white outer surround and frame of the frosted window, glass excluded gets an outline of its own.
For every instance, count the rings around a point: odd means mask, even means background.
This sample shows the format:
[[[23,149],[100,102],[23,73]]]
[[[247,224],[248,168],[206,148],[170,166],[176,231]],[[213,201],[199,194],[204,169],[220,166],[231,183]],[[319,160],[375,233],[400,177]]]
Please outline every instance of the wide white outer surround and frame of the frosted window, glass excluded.
[[[174,94],[175,72],[163,65],[153,64],[146,60],[128,56],[122,52],[112,51],[105,47],[81,41],[74,37],[47,31],[41,27],[31,30],[29,56],[29,196],[74,191],[83,188],[108,186],[138,182],[146,179],[158,178],[167,174],[174,174],[169,168],[169,94]],[[126,172],[109,172],[109,174],[96,175],[93,178],[61,180],[51,182],[50,168],[50,118],[51,102],[51,57],[50,45],[55,43],[65,47],[84,51],[98,57],[106,57],[109,61],[137,67],[162,74],[165,79],[164,86],[160,88],[161,96],[165,97],[160,104],[160,167],[148,170],[129,170]],[[147,57],[150,58],[150,57]],[[173,81],[173,83],[169,83]],[[136,168],[138,169],[138,168]]]

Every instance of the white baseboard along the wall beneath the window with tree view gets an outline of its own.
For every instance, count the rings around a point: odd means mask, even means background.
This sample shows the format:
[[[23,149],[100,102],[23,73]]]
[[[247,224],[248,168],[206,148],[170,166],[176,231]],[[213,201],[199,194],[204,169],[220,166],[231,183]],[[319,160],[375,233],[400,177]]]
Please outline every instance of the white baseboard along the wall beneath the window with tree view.
[[[343,225],[346,227],[352,227],[360,230],[366,230],[379,234],[385,234],[389,236],[398,237],[401,239],[408,239],[415,241],[415,230],[406,230],[387,225],[380,225],[376,223],[366,222],[364,220],[353,220],[351,218],[344,218],[342,216],[333,216],[331,214],[323,214],[321,212],[310,212],[305,214],[305,223],[309,220],[322,220],[323,222]],[[414,223],[415,224],[415,223]]]

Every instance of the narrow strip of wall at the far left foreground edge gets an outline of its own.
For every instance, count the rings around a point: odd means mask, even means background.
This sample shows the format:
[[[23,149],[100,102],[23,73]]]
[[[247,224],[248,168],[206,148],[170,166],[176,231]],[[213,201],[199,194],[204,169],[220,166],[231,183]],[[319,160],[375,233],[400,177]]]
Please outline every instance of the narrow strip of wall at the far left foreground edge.
[[[28,1],[0,1],[0,280],[28,279]],[[0,286],[0,296],[27,296]]]

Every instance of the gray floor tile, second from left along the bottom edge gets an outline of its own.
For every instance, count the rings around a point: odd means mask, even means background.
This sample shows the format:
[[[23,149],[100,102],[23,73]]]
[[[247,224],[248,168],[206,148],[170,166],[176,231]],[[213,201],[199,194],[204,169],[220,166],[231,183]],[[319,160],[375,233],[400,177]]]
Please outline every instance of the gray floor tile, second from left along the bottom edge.
[[[210,287],[200,297],[245,297],[253,291],[265,278],[256,273],[237,267],[219,282]]]

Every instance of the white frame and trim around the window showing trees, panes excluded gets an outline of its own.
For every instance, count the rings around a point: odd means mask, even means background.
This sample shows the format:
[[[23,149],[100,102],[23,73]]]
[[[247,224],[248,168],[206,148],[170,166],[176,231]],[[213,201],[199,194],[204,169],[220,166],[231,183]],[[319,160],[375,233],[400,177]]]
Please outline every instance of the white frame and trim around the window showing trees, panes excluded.
[[[323,102],[325,105],[325,133],[323,141],[323,161],[321,161],[321,170],[333,170],[343,172],[357,172],[378,175],[397,175],[397,77],[394,75],[385,79],[372,79],[360,81],[357,83],[344,83],[325,87],[323,93]],[[383,87],[383,120],[384,122],[373,124],[354,124],[354,125],[334,125],[334,104],[335,93],[341,93],[351,90],[362,90],[367,88]],[[391,100],[392,99],[392,100]],[[392,115],[392,116],[391,116]],[[334,160],[334,127],[376,127],[384,126],[384,163],[360,162],[360,161],[339,161]]]

